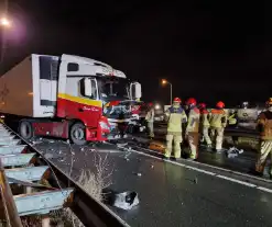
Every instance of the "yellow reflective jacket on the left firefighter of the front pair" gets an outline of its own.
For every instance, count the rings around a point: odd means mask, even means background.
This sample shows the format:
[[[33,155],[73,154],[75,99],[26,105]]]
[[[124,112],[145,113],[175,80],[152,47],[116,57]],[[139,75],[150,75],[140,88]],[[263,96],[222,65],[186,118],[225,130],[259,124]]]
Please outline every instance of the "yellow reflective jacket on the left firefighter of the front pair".
[[[167,132],[182,133],[182,123],[187,122],[185,111],[179,105],[173,105],[165,112],[165,116],[168,121]]]

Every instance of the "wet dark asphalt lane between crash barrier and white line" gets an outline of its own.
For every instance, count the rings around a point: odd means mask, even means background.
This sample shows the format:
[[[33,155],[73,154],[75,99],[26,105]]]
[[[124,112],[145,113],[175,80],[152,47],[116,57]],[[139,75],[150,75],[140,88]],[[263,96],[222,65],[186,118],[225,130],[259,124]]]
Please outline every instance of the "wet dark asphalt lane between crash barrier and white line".
[[[131,226],[272,226],[272,190],[265,192],[247,182],[210,175],[202,167],[196,171],[108,145],[95,150],[76,146],[70,150],[65,143],[36,146],[44,154],[53,154],[53,161],[66,172],[72,170],[75,179],[81,169],[96,171],[98,158],[107,160],[109,189],[139,193],[140,204],[133,209],[111,207]],[[75,162],[70,168],[72,158]]]

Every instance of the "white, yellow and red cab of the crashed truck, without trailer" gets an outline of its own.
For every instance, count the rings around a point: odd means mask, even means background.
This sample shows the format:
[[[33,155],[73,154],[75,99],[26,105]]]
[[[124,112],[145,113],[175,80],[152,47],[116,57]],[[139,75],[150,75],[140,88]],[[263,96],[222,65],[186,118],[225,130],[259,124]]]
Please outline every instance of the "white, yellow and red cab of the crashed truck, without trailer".
[[[47,83],[41,81],[41,92],[54,97],[48,90],[57,91],[55,115],[78,122],[69,132],[76,144],[108,139],[109,134],[133,118],[131,102],[141,98],[141,84],[128,80],[122,71],[79,56],[63,55],[57,88],[54,89],[54,82],[51,88]]]

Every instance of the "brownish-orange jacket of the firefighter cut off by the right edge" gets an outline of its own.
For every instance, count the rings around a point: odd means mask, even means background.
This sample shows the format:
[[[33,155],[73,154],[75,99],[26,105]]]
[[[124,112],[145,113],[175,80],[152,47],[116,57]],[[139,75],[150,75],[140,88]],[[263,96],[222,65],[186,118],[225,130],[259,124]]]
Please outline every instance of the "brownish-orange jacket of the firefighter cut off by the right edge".
[[[258,129],[262,140],[272,140],[272,112],[262,112],[258,118]]]

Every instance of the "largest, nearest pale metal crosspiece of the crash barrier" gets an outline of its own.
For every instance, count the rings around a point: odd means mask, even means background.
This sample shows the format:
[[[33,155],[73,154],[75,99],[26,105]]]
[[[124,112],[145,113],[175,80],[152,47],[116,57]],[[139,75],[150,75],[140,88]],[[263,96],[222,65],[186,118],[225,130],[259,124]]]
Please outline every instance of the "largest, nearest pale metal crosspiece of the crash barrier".
[[[47,214],[64,207],[72,196],[74,189],[43,191],[32,194],[13,196],[20,216],[32,214]]]

